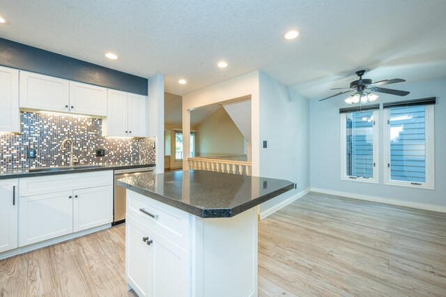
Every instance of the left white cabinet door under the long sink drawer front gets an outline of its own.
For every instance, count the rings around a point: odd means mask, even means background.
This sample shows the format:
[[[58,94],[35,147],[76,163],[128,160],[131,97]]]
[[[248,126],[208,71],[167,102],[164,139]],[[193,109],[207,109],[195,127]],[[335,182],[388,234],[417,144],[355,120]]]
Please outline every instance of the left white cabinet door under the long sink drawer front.
[[[20,197],[19,245],[72,233],[72,191]]]

